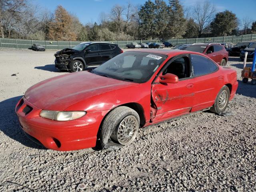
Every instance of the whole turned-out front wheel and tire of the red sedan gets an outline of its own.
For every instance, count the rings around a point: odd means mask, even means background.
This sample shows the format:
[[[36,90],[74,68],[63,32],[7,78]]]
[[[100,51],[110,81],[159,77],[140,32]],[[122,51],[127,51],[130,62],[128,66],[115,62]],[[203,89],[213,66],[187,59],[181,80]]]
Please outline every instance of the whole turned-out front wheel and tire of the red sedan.
[[[127,120],[133,122],[134,127],[132,130],[130,127],[127,128],[124,126],[124,122],[127,122]],[[126,106],[114,108],[102,123],[99,147],[101,149],[107,149],[109,139],[122,145],[131,144],[136,138],[139,126],[140,117],[135,110]]]

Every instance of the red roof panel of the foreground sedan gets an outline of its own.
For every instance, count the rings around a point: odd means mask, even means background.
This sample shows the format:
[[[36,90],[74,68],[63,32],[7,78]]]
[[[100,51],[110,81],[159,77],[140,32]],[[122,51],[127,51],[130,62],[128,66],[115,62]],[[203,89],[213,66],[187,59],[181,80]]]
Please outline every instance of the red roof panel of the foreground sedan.
[[[193,51],[186,51],[186,50],[178,50],[178,49],[165,49],[165,50],[158,50],[158,49],[143,49],[143,50],[128,50],[126,52],[146,52],[146,53],[151,53],[151,54],[163,54],[163,55],[168,55],[168,56],[176,56],[179,54],[197,54],[197,55],[202,55],[205,56],[202,53],[198,53],[198,52],[193,52]]]

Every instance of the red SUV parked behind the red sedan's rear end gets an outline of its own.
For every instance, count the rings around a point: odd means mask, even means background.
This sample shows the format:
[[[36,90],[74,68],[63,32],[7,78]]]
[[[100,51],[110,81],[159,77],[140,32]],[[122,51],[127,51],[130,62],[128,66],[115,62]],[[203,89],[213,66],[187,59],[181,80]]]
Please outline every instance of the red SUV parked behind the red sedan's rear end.
[[[228,62],[228,52],[219,43],[194,43],[185,50],[205,54],[221,66],[225,66]]]

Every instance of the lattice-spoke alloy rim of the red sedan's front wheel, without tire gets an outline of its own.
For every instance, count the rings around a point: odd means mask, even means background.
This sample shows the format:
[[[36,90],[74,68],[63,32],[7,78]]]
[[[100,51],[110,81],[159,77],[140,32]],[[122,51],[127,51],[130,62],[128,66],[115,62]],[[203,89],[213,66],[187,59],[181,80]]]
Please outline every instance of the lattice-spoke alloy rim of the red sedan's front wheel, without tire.
[[[132,115],[126,116],[112,132],[111,138],[122,145],[128,145],[136,138],[139,123]]]

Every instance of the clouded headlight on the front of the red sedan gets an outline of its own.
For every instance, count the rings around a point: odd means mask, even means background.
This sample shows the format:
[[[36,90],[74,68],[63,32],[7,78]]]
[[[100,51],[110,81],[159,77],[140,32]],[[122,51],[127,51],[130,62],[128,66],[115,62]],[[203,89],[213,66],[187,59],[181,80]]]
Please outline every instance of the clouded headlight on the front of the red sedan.
[[[40,117],[56,120],[56,121],[70,121],[78,119],[86,115],[85,111],[50,111],[42,110],[39,114]]]

